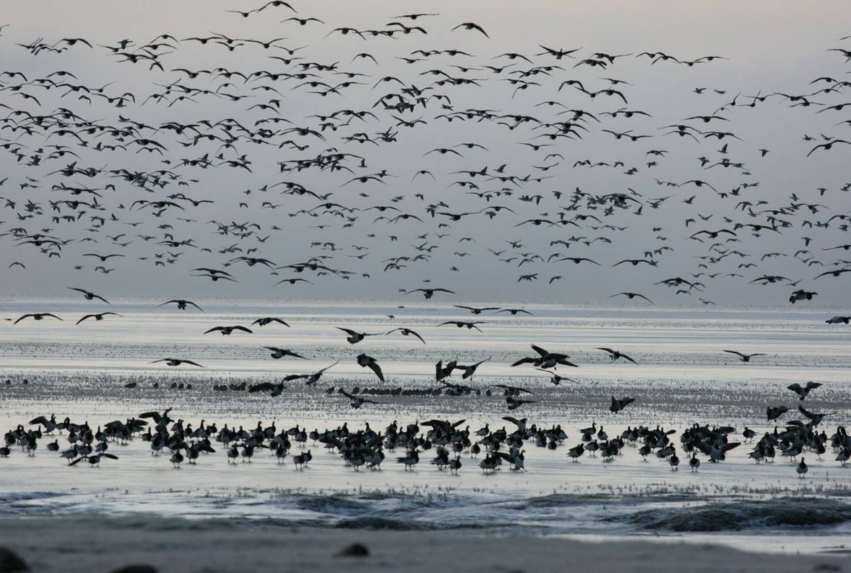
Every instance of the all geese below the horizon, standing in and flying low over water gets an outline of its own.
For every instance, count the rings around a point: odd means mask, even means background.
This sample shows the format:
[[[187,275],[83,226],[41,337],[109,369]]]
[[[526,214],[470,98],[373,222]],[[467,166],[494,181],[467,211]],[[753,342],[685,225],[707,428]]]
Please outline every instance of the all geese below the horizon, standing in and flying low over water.
[[[111,303],[105,297],[88,289],[68,288],[79,292],[88,301],[97,301],[97,304],[111,306]],[[203,309],[197,303],[186,299],[165,301],[159,307],[171,305],[174,305],[178,311],[193,308],[198,312],[203,312]],[[464,305],[456,305],[455,307],[465,312],[471,312],[473,315],[502,311],[513,313],[513,311],[520,310]],[[524,312],[531,314],[528,311]],[[77,324],[92,317],[95,320],[100,320],[106,315],[121,317],[117,312],[92,312],[80,318]],[[14,324],[18,324],[26,318],[33,318],[36,321],[44,318],[63,320],[51,312],[31,312],[15,319]],[[12,318],[6,320],[13,321]],[[851,320],[849,317],[833,317],[825,322],[848,324],[849,320]],[[290,327],[290,324],[283,318],[272,316],[256,318],[249,326],[262,328],[270,324]],[[476,324],[481,324],[481,321],[475,324],[462,320],[446,321],[436,324],[432,328],[455,325],[459,328],[473,329],[477,328]],[[419,332],[408,327],[397,327],[386,332],[364,332],[346,327],[336,327],[336,329],[340,330],[341,336],[345,336],[346,342],[351,346],[363,342],[368,337],[388,336],[394,333],[411,336],[422,344],[426,344],[426,339]],[[231,335],[235,332],[248,335],[254,333],[248,326],[233,324],[214,326],[204,331],[203,334]],[[282,358],[308,359],[300,352],[294,352],[289,348],[263,347],[263,349],[270,352],[270,357],[276,360]],[[563,369],[564,367],[579,368],[579,364],[571,361],[567,353],[552,352],[534,344],[531,345],[531,349],[533,352],[530,352],[530,355],[518,356],[511,363],[511,367],[531,366],[534,370],[545,373],[554,386],[559,386],[563,381],[576,383],[557,370],[559,367]],[[613,362],[624,360],[638,365],[637,361],[625,352],[609,347],[599,347],[597,350],[605,352]],[[724,350],[723,352],[734,355],[743,363],[749,363],[751,359],[765,355],[761,352],[745,353],[736,350]],[[222,392],[268,393],[271,397],[277,397],[284,393],[288,384],[292,382],[300,382],[307,387],[316,386],[328,370],[340,364],[340,359],[334,364],[324,366],[311,373],[285,375],[277,382],[263,381],[250,385],[245,381],[231,383],[230,385],[214,384],[213,389]],[[386,381],[376,358],[362,352],[357,354],[354,359],[358,365],[371,370],[378,380]],[[537,400],[528,399],[534,393],[528,388],[510,384],[489,384],[486,387],[474,386],[473,377],[476,375],[477,369],[489,360],[491,360],[490,357],[484,358],[474,364],[459,364],[457,360],[444,363],[443,360],[440,360],[435,364],[434,370],[434,379],[438,386],[426,388],[421,392],[432,395],[443,394],[448,397],[481,395],[481,393],[485,393],[487,396],[501,394],[505,398],[505,407],[511,411],[537,402]],[[203,364],[189,358],[159,358],[151,364],[204,368]],[[450,381],[451,377],[459,371],[460,381]],[[9,384],[10,382],[8,380],[6,383]],[[125,387],[135,388],[137,384],[138,382],[129,382]],[[154,381],[152,384],[154,387],[158,387],[159,382]],[[172,387],[177,386],[177,382],[172,384]],[[835,459],[844,467],[851,457],[851,437],[848,436],[845,427],[838,425],[830,435],[819,428],[826,417],[836,414],[836,412],[814,412],[803,405],[810,393],[821,386],[821,383],[814,381],[808,381],[805,384],[796,382],[789,385],[788,390],[797,397],[797,412],[801,415],[801,418],[787,420],[783,423],[783,427],[774,426],[773,432],[763,433],[762,436],[758,437],[748,457],[757,463],[774,461],[774,457],[778,455],[788,457],[792,461],[797,461],[797,474],[803,477],[808,471],[802,456],[805,452],[812,452],[821,458],[828,450],[832,450],[836,454]],[[180,387],[182,389],[183,383],[180,383]],[[188,388],[191,389],[191,385]],[[365,404],[386,404],[366,398],[367,396],[383,395],[392,398],[400,395],[413,395],[418,392],[420,391],[412,388],[371,388],[367,386],[356,386],[350,389],[331,386],[324,390],[324,393],[328,395],[345,397],[350,401],[351,408],[356,410],[362,408]],[[608,404],[608,410],[611,415],[616,415],[635,401],[635,398],[629,396],[618,398],[613,395],[610,404]],[[769,423],[780,424],[780,418],[790,411],[791,408],[784,404],[768,405],[766,420]],[[343,424],[322,431],[315,428],[308,433],[306,427],[300,427],[300,425],[278,429],[274,421],[268,427],[265,427],[262,422],[258,422],[254,430],[244,427],[228,427],[227,424],[219,429],[219,425],[208,424],[204,420],[197,427],[192,427],[191,423],[186,423],[183,419],[173,419],[169,415],[170,412],[171,409],[163,412],[145,412],[138,417],[129,418],[125,421],[106,422],[95,430],[89,426],[88,421],[78,424],[71,422],[70,418],[67,417],[64,421],[57,421],[55,415],[50,415],[49,418],[38,416],[29,421],[29,428],[20,424],[5,434],[5,445],[0,448],[0,457],[10,456],[16,447],[20,447],[21,452],[34,456],[40,439],[52,436],[54,432],[61,433],[64,430],[68,433],[68,447],[60,446],[59,439],[55,438],[54,441],[47,444],[47,449],[57,453],[70,465],[86,462],[93,466],[99,466],[100,461],[104,458],[117,459],[115,454],[107,451],[110,450],[111,444],[127,445],[134,438],[141,438],[150,443],[152,455],[159,456],[161,453],[167,452],[168,460],[174,467],[180,467],[180,464],[185,461],[194,464],[202,455],[214,454],[218,447],[226,452],[229,464],[240,459],[251,461],[257,450],[266,449],[272,456],[275,456],[278,462],[283,462],[285,458],[290,456],[296,468],[304,468],[311,461],[312,454],[311,450],[305,451],[303,448],[311,440],[313,444],[323,444],[328,451],[339,455],[347,467],[353,467],[355,470],[359,470],[360,467],[379,469],[381,463],[385,460],[385,451],[395,452],[397,449],[404,450],[403,456],[397,456],[397,462],[403,464],[405,470],[409,470],[420,462],[421,453],[433,449],[434,457],[431,459],[431,464],[437,466],[438,470],[448,469],[450,473],[457,474],[462,467],[461,457],[463,454],[469,454],[474,458],[483,454],[483,459],[477,461],[478,467],[481,468],[483,473],[493,473],[506,462],[506,467],[511,468],[511,470],[525,470],[524,446],[528,443],[534,443],[538,447],[549,450],[557,450],[568,440],[568,434],[561,425],[539,427],[535,424],[528,424],[527,418],[517,419],[511,415],[503,417],[503,420],[511,422],[515,427],[511,432],[506,430],[505,427],[491,429],[487,424],[476,432],[472,432],[469,426],[463,426],[465,420],[433,419],[424,421],[422,424],[417,421],[405,426],[400,426],[394,421],[383,432],[374,431],[367,423],[363,429],[357,431],[350,431],[348,425]],[[36,428],[32,428],[33,426]],[[427,429],[423,430],[420,426],[427,427]],[[698,471],[701,463],[699,454],[713,463],[724,461],[726,452],[743,443],[731,439],[734,438],[736,432],[734,427],[701,426],[696,423],[685,428],[680,436],[680,448],[689,455],[688,466],[690,469],[694,472]],[[616,459],[615,456],[622,454],[626,445],[631,445],[637,447],[638,454],[644,460],[648,456],[655,456],[666,461],[671,470],[677,470],[680,457],[677,456],[677,445],[670,438],[674,433],[677,433],[677,431],[659,426],[655,428],[636,426],[627,427],[622,433],[609,436],[603,427],[598,427],[595,422],[591,424],[591,427],[580,430],[580,442],[569,448],[567,455],[573,461],[578,461],[580,456],[585,453],[588,453],[589,456],[596,456],[599,452],[603,461],[610,462]],[[749,427],[745,427],[740,435],[743,441],[753,442],[757,438],[757,433]],[[290,454],[293,444],[300,447],[300,453]],[[800,461],[797,460],[798,457],[800,457]]]

